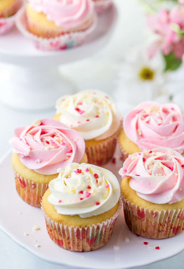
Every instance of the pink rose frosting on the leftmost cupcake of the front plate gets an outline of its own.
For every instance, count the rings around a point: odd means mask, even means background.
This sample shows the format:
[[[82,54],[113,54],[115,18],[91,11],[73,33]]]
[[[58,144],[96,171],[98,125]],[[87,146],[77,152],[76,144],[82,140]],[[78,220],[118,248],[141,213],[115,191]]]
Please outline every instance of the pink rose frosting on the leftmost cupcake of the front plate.
[[[81,161],[85,142],[75,130],[53,119],[41,119],[14,130],[9,143],[22,164],[39,174],[56,174],[72,162]]]

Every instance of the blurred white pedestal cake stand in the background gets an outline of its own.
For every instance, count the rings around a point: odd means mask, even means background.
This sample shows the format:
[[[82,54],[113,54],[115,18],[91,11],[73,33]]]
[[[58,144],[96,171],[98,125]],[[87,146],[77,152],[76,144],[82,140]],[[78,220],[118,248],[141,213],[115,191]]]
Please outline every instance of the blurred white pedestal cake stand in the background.
[[[0,36],[0,61],[11,64],[0,72],[0,100],[16,109],[54,107],[58,97],[74,91],[74,83],[62,76],[58,65],[89,57],[103,49],[116,19],[117,9],[113,4],[99,17],[97,28],[85,43],[64,51],[39,51],[16,28]]]

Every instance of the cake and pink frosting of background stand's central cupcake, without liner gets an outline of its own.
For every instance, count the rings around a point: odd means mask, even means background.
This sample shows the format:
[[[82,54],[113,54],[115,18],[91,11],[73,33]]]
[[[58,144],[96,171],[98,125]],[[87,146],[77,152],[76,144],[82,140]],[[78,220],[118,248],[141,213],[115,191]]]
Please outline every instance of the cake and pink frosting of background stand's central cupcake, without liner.
[[[92,0],[29,0],[26,16],[34,35],[58,37],[88,29],[94,21],[94,5]]]

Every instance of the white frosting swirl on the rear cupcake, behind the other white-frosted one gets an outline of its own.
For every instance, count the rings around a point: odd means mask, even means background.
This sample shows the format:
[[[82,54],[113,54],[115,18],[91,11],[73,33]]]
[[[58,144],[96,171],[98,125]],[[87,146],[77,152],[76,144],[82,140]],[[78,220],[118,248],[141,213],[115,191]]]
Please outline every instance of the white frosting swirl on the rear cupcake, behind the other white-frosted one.
[[[114,134],[121,121],[114,102],[101,91],[65,95],[56,103],[60,122],[78,131],[83,139],[101,140]]]

